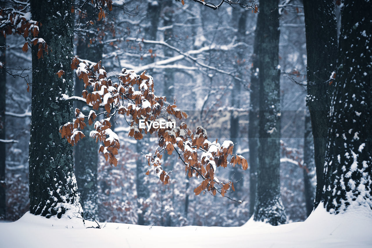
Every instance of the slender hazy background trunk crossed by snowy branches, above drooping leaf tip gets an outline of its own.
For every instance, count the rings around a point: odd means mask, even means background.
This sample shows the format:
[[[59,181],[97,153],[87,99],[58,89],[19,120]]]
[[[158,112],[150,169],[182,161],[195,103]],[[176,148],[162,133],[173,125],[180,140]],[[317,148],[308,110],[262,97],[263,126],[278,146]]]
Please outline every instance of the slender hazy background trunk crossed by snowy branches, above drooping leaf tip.
[[[238,40],[237,42],[244,42],[245,38],[245,33],[246,33],[246,20],[247,20],[247,12],[246,11],[241,11],[241,9],[237,9],[233,11],[234,14],[234,20],[236,20],[236,17],[238,17],[238,23],[237,23],[237,28],[238,28],[238,33],[237,37]],[[237,74],[239,77],[242,75],[242,69],[244,65],[244,56],[245,52],[243,48],[240,48],[237,53]],[[240,81],[235,79],[234,80],[234,87],[231,90],[231,106],[234,109],[240,108],[240,90],[241,90],[241,85]],[[234,143],[234,153],[237,152],[238,147],[239,147],[239,111],[231,111],[230,115],[230,140]],[[241,198],[243,195],[243,185],[244,185],[244,177],[243,177],[243,169],[240,166],[234,166],[231,171],[231,181],[234,182],[235,186],[235,195],[237,198]]]

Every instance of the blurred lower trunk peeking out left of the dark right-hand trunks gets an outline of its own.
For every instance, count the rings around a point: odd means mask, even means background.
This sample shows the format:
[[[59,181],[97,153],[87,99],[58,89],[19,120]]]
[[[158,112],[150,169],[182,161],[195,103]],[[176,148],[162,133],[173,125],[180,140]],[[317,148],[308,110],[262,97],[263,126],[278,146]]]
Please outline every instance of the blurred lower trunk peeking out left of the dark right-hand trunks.
[[[314,209],[314,140],[311,132],[310,113],[305,115],[305,136],[304,136],[304,197],[306,214],[309,216]]]

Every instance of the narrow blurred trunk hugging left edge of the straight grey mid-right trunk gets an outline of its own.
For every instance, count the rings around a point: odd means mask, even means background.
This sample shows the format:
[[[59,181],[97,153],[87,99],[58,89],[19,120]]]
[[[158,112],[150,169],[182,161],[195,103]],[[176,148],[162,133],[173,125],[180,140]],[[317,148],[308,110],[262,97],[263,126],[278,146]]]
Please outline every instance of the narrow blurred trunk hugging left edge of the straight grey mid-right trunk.
[[[258,60],[258,40],[257,28],[254,34],[252,70],[250,84],[250,111],[249,111],[249,214],[254,212],[257,194],[257,166],[259,164],[258,146],[259,146],[259,109],[260,109],[260,79],[259,79],[259,60]]]

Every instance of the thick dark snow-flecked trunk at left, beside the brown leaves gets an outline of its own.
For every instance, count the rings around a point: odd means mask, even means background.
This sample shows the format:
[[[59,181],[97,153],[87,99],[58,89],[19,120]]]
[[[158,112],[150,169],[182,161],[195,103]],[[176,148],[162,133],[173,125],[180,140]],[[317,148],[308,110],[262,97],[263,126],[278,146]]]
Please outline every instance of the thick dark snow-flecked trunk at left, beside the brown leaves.
[[[30,212],[73,217],[80,209],[73,171],[73,147],[58,129],[73,116],[72,104],[59,101],[73,94],[73,27],[71,1],[31,1],[32,19],[42,23],[38,38],[48,52],[38,58],[32,47],[32,117],[29,150]],[[64,70],[58,78],[56,73]]]

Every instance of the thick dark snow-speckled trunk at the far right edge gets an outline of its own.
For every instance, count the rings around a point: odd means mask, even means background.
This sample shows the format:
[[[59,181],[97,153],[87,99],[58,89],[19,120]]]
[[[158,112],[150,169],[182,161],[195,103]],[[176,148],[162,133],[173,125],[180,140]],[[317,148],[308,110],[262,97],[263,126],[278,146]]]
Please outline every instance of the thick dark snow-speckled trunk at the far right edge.
[[[344,1],[325,154],[323,202],[330,213],[372,209],[371,3]]]

